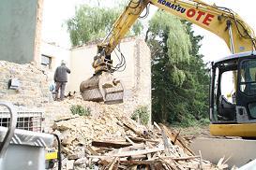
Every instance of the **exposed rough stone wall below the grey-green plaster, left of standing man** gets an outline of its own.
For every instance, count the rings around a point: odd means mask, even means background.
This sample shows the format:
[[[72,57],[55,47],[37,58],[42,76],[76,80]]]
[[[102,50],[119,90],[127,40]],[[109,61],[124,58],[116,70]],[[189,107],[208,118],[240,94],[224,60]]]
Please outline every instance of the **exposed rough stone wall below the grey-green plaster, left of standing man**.
[[[8,89],[8,81],[18,78],[18,90]],[[48,78],[43,70],[34,64],[13,64],[0,61],[0,100],[16,106],[42,106],[53,100],[49,91]]]

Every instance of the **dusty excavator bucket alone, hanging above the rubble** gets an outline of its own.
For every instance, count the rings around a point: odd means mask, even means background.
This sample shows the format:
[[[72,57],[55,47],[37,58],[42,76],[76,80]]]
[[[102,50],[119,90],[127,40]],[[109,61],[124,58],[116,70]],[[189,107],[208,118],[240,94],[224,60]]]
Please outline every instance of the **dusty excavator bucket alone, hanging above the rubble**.
[[[111,73],[103,72],[93,76],[80,85],[80,92],[85,101],[104,102],[105,104],[123,103],[124,88]]]

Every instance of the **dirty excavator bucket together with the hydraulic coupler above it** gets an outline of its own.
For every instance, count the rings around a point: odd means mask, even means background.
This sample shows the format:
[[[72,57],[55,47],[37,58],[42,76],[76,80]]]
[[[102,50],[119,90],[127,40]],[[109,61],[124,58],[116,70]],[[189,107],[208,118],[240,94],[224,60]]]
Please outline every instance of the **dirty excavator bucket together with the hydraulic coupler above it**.
[[[94,57],[95,74],[80,85],[85,101],[104,102],[105,104],[123,103],[124,88],[120,80],[113,77],[113,61],[106,55],[104,46],[98,46],[98,55]]]

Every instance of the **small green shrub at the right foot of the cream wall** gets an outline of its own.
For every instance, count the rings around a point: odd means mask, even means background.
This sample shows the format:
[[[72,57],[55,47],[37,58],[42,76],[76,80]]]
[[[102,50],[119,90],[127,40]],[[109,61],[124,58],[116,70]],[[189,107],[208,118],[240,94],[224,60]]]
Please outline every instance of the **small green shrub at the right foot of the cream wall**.
[[[140,120],[143,125],[146,125],[149,121],[149,111],[147,106],[138,106],[131,116],[132,120]]]

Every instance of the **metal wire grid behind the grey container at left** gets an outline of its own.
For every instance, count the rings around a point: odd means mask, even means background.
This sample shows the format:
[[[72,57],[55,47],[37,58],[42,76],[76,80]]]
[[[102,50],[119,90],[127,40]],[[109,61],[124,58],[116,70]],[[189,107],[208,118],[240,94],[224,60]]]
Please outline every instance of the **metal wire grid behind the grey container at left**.
[[[10,115],[8,111],[0,111],[0,126],[8,127]],[[42,132],[43,112],[18,111],[17,129]]]

